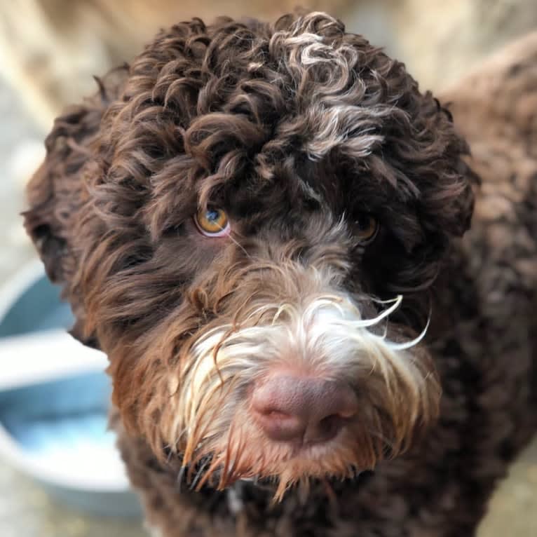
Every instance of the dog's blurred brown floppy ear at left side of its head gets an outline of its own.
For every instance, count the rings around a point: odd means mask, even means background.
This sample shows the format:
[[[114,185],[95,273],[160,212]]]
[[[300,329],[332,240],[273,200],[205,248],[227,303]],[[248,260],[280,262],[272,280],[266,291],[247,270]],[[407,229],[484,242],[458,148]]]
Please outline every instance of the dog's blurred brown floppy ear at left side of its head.
[[[58,117],[46,138],[46,157],[27,186],[28,210],[22,213],[25,227],[36,246],[46,273],[62,285],[62,297],[71,302],[76,316],[73,335],[81,337],[83,306],[70,284],[77,269],[74,230],[86,201],[85,165],[93,159],[93,147],[101,118],[128,74],[128,66],[96,79],[99,91],[83,104],[70,107]],[[90,341],[83,341],[89,344]]]

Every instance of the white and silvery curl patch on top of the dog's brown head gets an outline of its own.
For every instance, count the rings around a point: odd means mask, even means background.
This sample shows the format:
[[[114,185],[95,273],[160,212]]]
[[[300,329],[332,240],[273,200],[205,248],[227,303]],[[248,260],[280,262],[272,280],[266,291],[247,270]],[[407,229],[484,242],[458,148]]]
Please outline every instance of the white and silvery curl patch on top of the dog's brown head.
[[[319,18],[333,34],[309,31]],[[358,157],[371,154],[384,140],[379,120],[393,111],[386,103],[362,103],[367,88],[358,75],[360,53],[351,43],[334,39],[341,31],[336,19],[310,13],[271,38],[270,48],[285,57],[297,84],[297,100],[304,101],[300,118],[306,116],[311,133],[304,151],[312,160],[320,160],[335,147]],[[286,130],[292,130],[292,123],[284,121]]]

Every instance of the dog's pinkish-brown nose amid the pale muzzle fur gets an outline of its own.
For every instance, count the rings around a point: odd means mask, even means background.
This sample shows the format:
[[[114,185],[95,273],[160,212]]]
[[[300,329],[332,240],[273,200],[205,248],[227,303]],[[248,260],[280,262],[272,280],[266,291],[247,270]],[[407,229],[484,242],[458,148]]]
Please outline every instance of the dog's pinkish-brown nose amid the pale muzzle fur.
[[[252,393],[252,411],[264,433],[278,442],[327,442],[358,413],[345,383],[271,376]]]

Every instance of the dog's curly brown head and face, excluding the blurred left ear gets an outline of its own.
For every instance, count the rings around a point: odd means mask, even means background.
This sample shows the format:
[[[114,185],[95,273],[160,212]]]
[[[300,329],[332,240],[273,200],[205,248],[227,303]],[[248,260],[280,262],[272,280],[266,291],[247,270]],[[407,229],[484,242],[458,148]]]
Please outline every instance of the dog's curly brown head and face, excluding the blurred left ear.
[[[92,143],[69,292],[157,456],[280,497],[435,420],[426,290],[473,198],[403,64],[322,13],[194,20],[132,64]]]

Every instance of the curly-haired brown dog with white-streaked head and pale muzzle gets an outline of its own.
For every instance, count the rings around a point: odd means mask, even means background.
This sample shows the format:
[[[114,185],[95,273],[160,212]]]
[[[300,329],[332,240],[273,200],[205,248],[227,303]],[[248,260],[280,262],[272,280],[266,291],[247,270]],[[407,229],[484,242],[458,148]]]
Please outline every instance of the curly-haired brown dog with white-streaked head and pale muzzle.
[[[450,95],[472,160],[322,13],[179,24],[57,119],[27,229],[151,526],[473,533],[537,420],[536,53]]]

